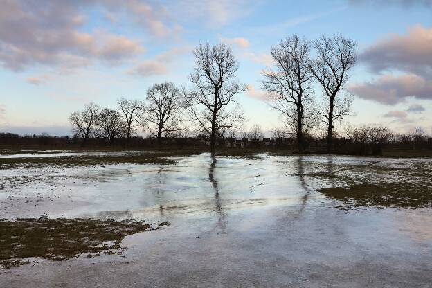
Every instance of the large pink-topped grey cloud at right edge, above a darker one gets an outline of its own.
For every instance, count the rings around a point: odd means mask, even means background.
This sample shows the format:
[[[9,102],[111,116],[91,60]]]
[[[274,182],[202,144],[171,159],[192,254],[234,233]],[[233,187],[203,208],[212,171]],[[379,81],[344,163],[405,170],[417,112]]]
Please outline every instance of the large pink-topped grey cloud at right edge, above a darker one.
[[[372,71],[397,69],[432,78],[432,28],[416,25],[406,35],[388,35],[360,55]]]

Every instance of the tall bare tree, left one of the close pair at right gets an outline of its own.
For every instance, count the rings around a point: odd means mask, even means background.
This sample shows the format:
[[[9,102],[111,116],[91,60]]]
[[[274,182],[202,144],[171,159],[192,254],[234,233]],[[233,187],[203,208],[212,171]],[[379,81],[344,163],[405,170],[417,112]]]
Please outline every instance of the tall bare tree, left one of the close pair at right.
[[[312,81],[314,74],[309,64],[310,46],[297,35],[283,39],[271,48],[276,67],[263,71],[262,89],[272,101],[271,107],[286,116],[289,126],[296,131],[298,150],[305,148],[305,132],[315,123]]]

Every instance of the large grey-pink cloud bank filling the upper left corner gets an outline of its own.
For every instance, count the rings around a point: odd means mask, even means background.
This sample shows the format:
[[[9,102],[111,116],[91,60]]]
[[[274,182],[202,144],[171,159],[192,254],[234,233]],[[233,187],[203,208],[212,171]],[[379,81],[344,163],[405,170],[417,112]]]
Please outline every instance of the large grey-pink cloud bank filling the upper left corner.
[[[123,62],[144,51],[137,39],[125,35],[83,30],[91,10],[127,21],[156,37],[177,33],[179,26],[168,26],[168,12],[150,0],[3,1],[0,10],[0,66],[22,71],[30,66],[86,66],[94,60]],[[107,14],[108,13],[108,14]],[[93,17],[93,16],[92,16]]]

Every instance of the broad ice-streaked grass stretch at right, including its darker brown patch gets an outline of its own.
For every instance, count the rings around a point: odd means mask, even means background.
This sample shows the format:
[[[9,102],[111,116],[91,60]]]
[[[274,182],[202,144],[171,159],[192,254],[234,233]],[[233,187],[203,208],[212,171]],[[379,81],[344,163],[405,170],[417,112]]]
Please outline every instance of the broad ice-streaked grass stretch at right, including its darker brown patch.
[[[432,206],[429,163],[421,159],[310,163],[300,176],[314,179],[316,190],[340,201],[339,208],[417,208]]]

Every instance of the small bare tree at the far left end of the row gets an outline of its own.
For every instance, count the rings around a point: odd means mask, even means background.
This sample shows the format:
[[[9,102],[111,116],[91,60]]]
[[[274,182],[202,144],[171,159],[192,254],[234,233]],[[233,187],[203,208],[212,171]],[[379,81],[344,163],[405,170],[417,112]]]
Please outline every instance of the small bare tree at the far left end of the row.
[[[96,127],[100,107],[97,104],[89,103],[81,111],[74,111],[69,116],[69,122],[73,126],[73,132],[83,139],[82,145],[86,145],[89,136]]]

